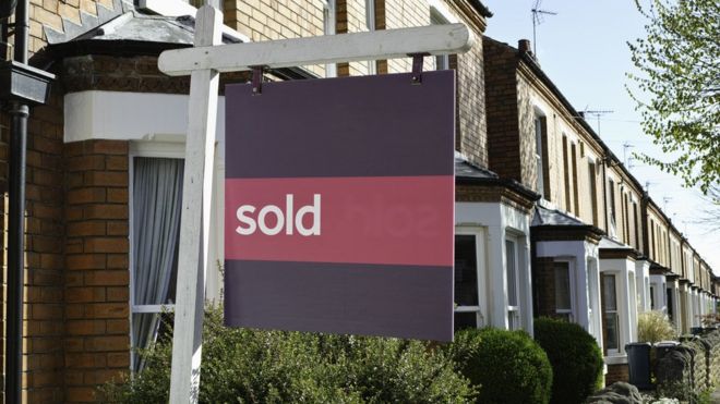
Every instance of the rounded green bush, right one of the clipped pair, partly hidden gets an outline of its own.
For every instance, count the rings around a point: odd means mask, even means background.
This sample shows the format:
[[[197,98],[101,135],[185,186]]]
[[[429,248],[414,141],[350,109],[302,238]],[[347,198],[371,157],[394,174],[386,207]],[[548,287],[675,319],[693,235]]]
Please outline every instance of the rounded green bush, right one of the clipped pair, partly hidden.
[[[602,352],[580,326],[564,320],[535,320],[535,339],[548,353],[553,403],[583,403],[602,383]]]

